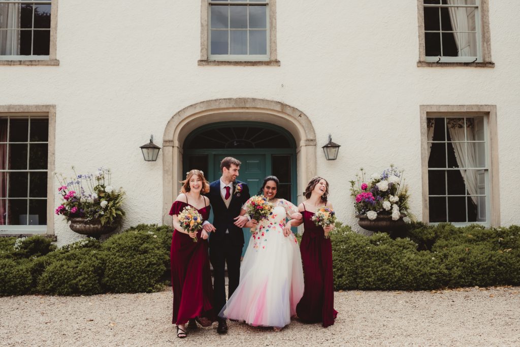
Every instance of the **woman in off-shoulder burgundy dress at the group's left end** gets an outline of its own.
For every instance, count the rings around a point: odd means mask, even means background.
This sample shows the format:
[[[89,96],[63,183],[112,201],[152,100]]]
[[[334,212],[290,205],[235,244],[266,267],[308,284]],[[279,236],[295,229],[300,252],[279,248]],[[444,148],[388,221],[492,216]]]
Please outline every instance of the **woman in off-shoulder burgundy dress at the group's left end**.
[[[198,322],[209,326],[215,320],[213,310],[213,287],[210,273],[207,238],[203,229],[187,233],[180,227],[177,215],[187,206],[199,211],[203,220],[210,216],[210,200],[201,194],[210,190],[210,185],[200,170],[187,173],[180,194],[172,205],[175,228],[172,237],[170,260],[172,265],[173,320],[177,325],[177,337],[186,337],[185,324],[196,328]],[[197,242],[192,238],[197,237]]]

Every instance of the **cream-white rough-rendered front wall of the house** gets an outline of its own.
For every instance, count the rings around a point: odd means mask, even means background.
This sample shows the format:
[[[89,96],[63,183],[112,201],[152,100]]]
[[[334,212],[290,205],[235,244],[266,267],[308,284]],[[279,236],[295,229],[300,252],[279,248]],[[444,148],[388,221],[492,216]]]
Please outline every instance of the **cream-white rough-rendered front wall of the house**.
[[[520,2],[490,2],[495,68],[418,68],[417,4],[279,0],[280,67],[197,65],[200,1],[60,1],[58,67],[0,66],[0,105],[52,104],[56,171],[113,171],[127,192],[125,226],[161,223],[162,151],[139,146],[203,100],[252,97],[302,110],[316,131],[317,173],[331,185],[340,220],[355,224],[348,181],[389,163],[406,170],[421,217],[420,105],[497,105],[501,224],[520,224]],[[328,134],[342,147],[327,162]],[[80,236],[55,217],[58,244]]]

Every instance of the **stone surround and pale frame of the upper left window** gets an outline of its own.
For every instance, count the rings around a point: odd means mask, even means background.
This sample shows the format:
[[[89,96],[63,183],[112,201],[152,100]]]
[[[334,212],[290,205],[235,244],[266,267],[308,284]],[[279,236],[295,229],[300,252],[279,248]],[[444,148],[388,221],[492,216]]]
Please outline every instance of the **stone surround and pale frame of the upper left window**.
[[[59,65],[56,59],[56,33],[57,33],[57,12],[58,0],[2,0],[0,3],[11,4],[50,4],[50,40],[49,55],[0,55],[0,65]],[[33,12],[34,27],[34,12]],[[33,32],[35,29],[31,28]],[[36,29],[37,30],[37,29]],[[31,53],[32,53],[31,42]]]

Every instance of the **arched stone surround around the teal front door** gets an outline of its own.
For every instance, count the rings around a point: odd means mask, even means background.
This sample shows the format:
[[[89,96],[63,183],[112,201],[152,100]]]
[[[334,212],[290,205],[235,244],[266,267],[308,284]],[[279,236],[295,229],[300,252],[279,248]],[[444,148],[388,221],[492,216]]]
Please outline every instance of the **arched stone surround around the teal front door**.
[[[170,119],[163,135],[163,222],[184,178],[183,146],[188,135],[197,128],[218,122],[263,122],[279,126],[294,138],[296,153],[296,191],[301,201],[302,191],[311,177],[316,175],[316,135],[308,117],[300,110],[282,102],[232,98],[202,101],[188,106]]]

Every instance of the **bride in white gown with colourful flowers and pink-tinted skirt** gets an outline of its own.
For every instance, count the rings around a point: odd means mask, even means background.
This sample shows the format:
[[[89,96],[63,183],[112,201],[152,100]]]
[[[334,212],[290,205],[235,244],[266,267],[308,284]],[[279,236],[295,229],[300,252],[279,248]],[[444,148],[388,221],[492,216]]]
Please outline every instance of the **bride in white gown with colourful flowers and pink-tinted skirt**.
[[[240,266],[240,283],[219,316],[252,326],[280,331],[291,323],[303,296],[302,258],[291,232],[293,220],[302,215],[291,202],[276,198],[278,178],[267,176],[261,192],[274,205],[269,218],[245,226],[256,227]],[[243,205],[246,213],[249,200]],[[290,221],[285,223],[285,218]]]

